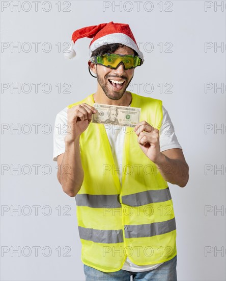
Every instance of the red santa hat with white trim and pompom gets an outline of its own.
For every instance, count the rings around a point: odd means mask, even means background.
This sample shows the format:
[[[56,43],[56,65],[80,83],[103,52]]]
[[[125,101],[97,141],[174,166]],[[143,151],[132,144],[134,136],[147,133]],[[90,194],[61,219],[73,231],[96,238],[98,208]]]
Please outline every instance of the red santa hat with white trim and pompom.
[[[89,46],[90,56],[94,50],[102,45],[121,43],[136,51],[144,62],[144,55],[140,52],[132,31],[127,24],[119,24],[110,21],[108,24],[100,24],[98,26],[84,27],[75,30],[71,38],[70,51],[64,53],[66,58],[71,59],[76,56],[73,45],[77,39],[84,37],[93,38]]]

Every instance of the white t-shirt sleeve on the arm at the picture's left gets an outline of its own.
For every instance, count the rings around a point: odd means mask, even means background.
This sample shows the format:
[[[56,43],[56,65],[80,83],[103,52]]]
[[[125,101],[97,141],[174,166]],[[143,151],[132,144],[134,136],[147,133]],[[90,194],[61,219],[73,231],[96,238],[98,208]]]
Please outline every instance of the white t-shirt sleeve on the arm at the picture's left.
[[[58,155],[65,152],[65,136],[68,130],[68,108],[56,114],[54,130],[53,130],[53,161],[58,160]]]

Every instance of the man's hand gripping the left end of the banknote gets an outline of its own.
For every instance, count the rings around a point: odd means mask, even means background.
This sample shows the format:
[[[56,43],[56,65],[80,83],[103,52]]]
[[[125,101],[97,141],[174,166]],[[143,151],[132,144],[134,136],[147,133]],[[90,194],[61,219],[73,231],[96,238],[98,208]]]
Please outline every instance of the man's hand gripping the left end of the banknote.
[[[68,108],[69,134],[66,135],[65,141],[74,142],[88,128],[92,114],[96,112],[97,110],[87,103]]]

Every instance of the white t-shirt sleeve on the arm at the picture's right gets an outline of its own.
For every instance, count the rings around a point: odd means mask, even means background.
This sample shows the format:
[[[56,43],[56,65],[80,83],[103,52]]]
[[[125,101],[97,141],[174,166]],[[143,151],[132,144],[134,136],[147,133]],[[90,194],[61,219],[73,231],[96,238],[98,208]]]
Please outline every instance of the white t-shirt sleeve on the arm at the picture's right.
[[[174,131],[174,125],[171,121],[170,115],[167,110],[162,106],[163,118],[162,125],[159,130],[159,143],[160,143],[160,151],[164,151],[172,148],[180,148],[181,145],[178,142],[177,136]]]

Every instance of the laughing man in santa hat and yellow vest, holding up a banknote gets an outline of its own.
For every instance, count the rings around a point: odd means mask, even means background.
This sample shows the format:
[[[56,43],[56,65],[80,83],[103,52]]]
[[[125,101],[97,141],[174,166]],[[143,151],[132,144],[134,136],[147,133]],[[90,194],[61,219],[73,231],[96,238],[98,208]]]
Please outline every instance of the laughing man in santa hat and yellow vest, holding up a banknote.
[[[128,25],[86,27],[73,43],[83,37],[93,38],[88,64],[97,91],[56,115],[53,160],[63,191],[76,199],[86,280],[177,280],[167,182],[184,187],[188,165],[170,116],[160,100],[126,91],[144,62]],[[140,122],[131,131],[94,124],[94,103],[139,107]]]

